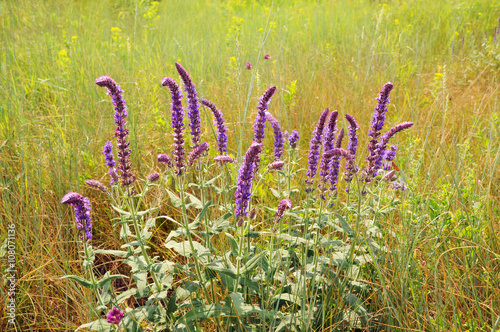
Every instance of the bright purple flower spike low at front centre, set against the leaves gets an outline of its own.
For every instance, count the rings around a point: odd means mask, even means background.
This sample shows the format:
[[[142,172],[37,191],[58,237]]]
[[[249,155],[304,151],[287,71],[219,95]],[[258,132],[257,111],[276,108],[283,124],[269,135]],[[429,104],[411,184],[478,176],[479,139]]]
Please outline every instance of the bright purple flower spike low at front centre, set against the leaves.
[[[243,217],[248,215],[247,208],[252,192],[253,167],[261,151],[262,144],[253,142],[243,157],[243,164],[238,172],[237,188],[234,194],[236,204],[234,215],[238,226],[243,224]]]

